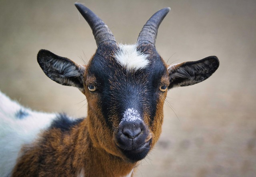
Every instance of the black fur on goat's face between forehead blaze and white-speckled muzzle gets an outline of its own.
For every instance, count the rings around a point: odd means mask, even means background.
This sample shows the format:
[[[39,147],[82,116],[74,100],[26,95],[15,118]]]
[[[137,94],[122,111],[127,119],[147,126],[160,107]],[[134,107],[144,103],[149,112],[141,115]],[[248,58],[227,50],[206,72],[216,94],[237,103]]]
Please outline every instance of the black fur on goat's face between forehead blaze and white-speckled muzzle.
[[[118,115],[121,121],[124,111],[128,108],[136,109],[142,116],[150,115],[153,123],[156,115],[156,104],[159,97],[159,86],[166,68],[152,45],[141,45],[137,50],[148,54],[150,64],[148,68],[127,71],[114,58],[116,46],[99,46],[88,67],[88,75],[96,78],[100,106],[106,123],[112,128],[110,117]]]

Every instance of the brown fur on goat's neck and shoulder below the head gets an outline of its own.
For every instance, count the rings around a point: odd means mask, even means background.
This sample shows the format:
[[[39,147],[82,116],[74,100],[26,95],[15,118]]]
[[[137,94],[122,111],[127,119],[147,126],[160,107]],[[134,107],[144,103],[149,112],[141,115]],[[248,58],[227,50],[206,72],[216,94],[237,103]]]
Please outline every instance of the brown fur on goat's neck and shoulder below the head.
[[[86,177],[129,174],[136,164],[99,148],[89,137],[89,120],[87,117],[70,132],[45,131],[37,143],[22,149],[12,176],[77,176],[82,170]]]

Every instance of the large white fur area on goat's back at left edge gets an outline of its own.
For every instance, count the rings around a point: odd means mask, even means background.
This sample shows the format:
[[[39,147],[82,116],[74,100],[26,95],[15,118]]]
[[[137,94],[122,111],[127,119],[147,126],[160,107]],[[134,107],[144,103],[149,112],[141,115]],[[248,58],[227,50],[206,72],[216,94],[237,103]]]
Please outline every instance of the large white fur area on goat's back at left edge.
[[[26,117],[17,118],[18,111]],[[24,144],[32,143],[38,133],[48,128],[55,113],[42,113],[22,107],[0,91],[0,176],[9,176]]]

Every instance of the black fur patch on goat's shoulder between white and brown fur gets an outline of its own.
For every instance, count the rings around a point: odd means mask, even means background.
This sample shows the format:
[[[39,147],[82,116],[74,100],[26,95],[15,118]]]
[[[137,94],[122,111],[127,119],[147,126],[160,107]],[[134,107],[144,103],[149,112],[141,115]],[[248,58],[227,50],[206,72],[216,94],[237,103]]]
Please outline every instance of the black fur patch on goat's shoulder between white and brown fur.
[[[56,128],[61,131],[69,131],[75,125],[82,122],[84,118],[71,120],[66,114],[59,114],[58,117],[52,122],[50,129]]]

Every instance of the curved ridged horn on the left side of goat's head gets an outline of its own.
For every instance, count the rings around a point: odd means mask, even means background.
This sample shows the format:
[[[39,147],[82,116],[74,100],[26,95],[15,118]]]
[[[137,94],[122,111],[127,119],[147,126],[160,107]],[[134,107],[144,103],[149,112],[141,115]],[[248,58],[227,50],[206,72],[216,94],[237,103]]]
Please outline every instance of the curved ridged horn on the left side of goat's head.
[[[116,44],[116,39],[108,26],[94,12],[80,3],[75,3],[75,6],[90,25],[97,46],[103,42]]]

